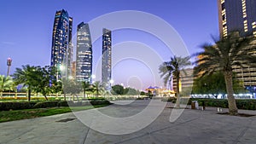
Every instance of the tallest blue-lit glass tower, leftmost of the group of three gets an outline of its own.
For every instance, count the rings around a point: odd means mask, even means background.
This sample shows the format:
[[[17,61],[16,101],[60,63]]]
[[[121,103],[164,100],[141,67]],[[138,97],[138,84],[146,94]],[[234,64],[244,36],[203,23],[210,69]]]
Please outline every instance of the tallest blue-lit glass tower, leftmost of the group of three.
[[[68,16],[66,10],[62,9],[55,13],[50,66],[57,67],[57,79],[61,78],[61,75],[67,78],[71,73],[72,26],[73,18]]]

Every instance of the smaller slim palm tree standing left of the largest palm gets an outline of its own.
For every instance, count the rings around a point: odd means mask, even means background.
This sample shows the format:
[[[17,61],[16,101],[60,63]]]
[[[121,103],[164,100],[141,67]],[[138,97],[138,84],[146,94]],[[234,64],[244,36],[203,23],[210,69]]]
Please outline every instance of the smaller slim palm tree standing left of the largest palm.
[[[164,84],[168,84],[172,78],[176,78],[176,96],[177,96],[177,102],[176,106],[179,108],[179,81],[180,81],[180,73],[185,72],[184,68],[186,66],[190,66],[191,62],[189,61],[190,57],[181,57],[181,56],[173,56],[171,57],[171,61],[166,61],[162,65],[160,65],[160,77],[164,79]]]

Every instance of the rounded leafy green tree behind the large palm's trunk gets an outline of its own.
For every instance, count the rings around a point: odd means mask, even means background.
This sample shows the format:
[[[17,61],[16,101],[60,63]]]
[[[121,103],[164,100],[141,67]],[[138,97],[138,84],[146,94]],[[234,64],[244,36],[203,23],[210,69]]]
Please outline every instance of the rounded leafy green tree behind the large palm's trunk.
[[[235,76],[235,73],[233,74]],[[233,78],[234,92],[241,93],[246,90],[241,81]],[[226,86],[223,72],[214,72],[212,75],[205,75],[196,78],[193,84],[193,93],[195,94],[221,94],[226,93]],[[218,95],[214,95],[216,98]]]

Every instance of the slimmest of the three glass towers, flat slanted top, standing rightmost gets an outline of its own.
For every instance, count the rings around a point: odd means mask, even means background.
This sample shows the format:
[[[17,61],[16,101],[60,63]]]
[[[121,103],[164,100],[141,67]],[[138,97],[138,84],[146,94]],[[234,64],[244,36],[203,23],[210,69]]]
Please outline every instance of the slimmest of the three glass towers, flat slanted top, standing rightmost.
[[[112,49],[111,31],[103,28],[102,34],[102,83],[109,89],[111,84]]]

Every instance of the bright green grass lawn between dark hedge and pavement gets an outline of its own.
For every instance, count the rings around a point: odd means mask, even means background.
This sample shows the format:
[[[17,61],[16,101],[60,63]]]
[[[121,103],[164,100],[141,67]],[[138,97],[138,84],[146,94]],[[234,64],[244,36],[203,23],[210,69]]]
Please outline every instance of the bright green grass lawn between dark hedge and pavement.
[[[0,123],[9,122],[20,119],[38,118],[44,116],[51,116],[73,111],[88,110],[97,107],[106,107],[108,105],[84,106],[84,107],[51,107],[51,108],[37,108],[25,109],[15,111],[2,111],[0,112]]]

